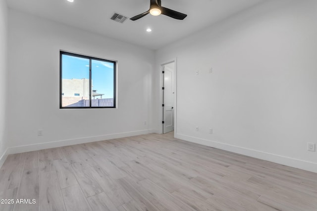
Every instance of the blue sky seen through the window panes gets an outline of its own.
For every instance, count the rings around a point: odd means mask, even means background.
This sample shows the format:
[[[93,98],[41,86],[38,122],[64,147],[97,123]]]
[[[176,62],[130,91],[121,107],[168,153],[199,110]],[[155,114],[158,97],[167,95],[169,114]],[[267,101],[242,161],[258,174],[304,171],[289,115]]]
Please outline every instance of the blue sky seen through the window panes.
[[[62,79],[89,79],[89,59],[62,55]],[[92,60],[92,89],[113,98],[113,63]]]

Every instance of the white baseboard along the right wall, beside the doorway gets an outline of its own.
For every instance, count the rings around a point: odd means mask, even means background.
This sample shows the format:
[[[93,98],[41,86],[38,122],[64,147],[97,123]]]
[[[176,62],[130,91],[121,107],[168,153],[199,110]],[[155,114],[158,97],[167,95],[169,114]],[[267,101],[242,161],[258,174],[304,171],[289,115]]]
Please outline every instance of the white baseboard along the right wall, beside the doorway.
[[[281,156],[281,155],[275,155],[275,154],[271,154],[271,153],[267,153],[267,152],[262,152],[262,151],[258,151],[258,150],[234,146],[234,145],[230,145],[230,144],[224,144],[224,143],[211,141],[211,140],[207,140],[207,139],[202,139],[202,138],[197,138],[197,137],[192,137],[192,136],[188,136],[188,135],[182,135],[179,133],[175,134],[175,138],[179,138],[182,140],[202,144],[205,146],[210,146],[210,147],[214,147],[217,149],[222,149],[222,150],[226,150],[229,152],[234,152],[234,153],[238,153],[241,155],[246,155],[246,156],[250,156],[253,158],[258,158],[258,159],[262,159],[265,161],[270,161],[273,163],[282,164],[285,166],[294,167],[297,169],[304,169],[304,170],[308,170],[308,171],[312,171],[312,172],[317,173],[317,163],[313,163],[313,162],[309,162],[309,161],[303,161],[303,160],[285,157],[285,156]]]

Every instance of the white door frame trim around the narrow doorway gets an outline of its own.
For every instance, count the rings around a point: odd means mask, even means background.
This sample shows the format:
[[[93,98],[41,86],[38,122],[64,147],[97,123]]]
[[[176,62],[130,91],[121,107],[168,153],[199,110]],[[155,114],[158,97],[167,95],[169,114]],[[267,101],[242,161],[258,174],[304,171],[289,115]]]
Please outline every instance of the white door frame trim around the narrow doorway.
[[[162,104],[163,104],[163,90],[162,90],[162,87],[163,87],[163,74],[162,74],[162,71],[163,71],[163,66],[165,64],[169,64],[169,63],[172,63],[174,62],[174,91],[175,91],[175,94],[174,94],[174,137],[175,135],[177,134],[177,58],[173,58],[173,59],[169,59],[169,60],[166,60],[164,62],[160,62],[160,65],[159,65],[159,102],[160,102],[160,109],[159,109],[159,114],[160,114],[160,120],[161,122],[164,120],[163,119],[163,109],[162,109]],[[163,124],[160,122],[160,124],[162,125],[162,127],[160,127],[159,129],[159,133],[162,134],[163,133]]]

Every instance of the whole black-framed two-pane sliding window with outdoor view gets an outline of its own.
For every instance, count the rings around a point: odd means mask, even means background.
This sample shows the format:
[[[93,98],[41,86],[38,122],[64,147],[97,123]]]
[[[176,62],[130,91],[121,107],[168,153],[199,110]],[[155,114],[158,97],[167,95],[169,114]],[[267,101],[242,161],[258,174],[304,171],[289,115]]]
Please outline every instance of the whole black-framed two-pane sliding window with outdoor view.
[[[60,51],[60,108],[115,108],[116,62]]]

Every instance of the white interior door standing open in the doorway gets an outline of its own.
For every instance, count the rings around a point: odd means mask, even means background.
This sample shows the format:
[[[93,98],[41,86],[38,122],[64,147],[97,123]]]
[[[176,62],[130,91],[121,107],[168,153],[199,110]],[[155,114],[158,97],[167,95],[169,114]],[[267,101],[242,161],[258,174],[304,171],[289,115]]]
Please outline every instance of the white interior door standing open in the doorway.
[[[163,133],[174,130],[174,62],[163,66]]]

